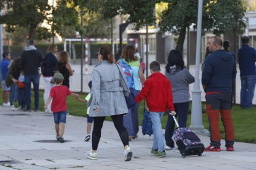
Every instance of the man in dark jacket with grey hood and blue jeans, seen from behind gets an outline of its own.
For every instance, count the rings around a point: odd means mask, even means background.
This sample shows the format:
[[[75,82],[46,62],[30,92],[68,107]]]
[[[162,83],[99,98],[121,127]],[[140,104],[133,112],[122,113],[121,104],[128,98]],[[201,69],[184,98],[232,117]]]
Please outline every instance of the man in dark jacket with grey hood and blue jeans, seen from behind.
[[[26,111],[31,111],[31,83],[33,83],[35,93],[35,111],[39,110],[39,71],[43,62],[43,55],[35,48],[35,40],[30,39],[28,46],[20,55],[20,68],[24,71],[25,76],[25,95]]]

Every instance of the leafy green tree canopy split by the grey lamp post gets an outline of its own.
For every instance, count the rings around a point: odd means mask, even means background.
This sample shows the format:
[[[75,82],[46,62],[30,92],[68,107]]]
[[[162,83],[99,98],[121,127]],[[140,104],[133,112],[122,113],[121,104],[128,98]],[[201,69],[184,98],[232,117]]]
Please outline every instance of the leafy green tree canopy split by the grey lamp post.
[[[179,34],[176,49],[182,52],[186,28],[197,23],[197,0],[169,0],[168,9],[164,10],[159,23],[161,32]],[[204,0],[202,30],[213,30],[214,34],[229,33],[233,31],[242,33],[246,27],[243,20],[244,6],[242,0]]]

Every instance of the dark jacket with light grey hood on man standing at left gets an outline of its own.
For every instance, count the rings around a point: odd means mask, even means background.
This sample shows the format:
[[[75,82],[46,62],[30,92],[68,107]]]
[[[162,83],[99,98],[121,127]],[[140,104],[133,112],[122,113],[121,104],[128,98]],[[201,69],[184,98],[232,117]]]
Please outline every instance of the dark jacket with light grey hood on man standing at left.
[[[24,75],[38,75],[38,68],[43,62],[43,55],[35,46],[25,47],[20,55],[20,68],[24,71]]]

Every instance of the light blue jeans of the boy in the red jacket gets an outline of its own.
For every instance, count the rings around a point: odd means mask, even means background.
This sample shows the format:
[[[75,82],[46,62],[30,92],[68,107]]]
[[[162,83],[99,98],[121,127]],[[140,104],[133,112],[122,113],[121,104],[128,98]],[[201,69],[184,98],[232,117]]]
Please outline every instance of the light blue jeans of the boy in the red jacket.
[[[151,121],[153,124],[153,146],[152,149],[158,149],[159,152],[164,151],[163,132],[161,126],[161,119],[163,118],[164,112],[153,112],[150,111]]]

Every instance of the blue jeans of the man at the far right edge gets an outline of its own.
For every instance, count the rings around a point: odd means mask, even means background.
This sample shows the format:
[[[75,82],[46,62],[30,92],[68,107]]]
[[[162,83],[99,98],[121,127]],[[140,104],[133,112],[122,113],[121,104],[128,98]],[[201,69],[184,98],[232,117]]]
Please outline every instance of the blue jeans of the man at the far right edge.
[[[242,108],[252,108],[255,84],[256,75],[241,76],[240,106]]]

